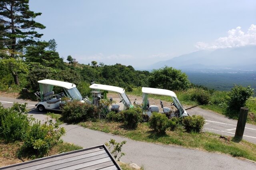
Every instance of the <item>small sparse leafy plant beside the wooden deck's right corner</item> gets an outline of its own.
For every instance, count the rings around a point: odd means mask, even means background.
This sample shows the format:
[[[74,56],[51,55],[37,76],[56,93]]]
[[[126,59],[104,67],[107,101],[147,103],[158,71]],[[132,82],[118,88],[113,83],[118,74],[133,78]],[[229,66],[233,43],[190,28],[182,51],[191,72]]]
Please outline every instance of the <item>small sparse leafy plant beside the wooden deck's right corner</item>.
[[[105,145],[108,146],[108,149],[110,150],[110,153],[114,156],[115,159],[118,161],[122,156],[125,155],[125,153],[121,152],[122,151],[122,146],[126,144],[126,140],[122,142],[116,142],[114,139],[110,139],[109,142],[106,142]],[[118,156],[120,152],[120,155]]]

